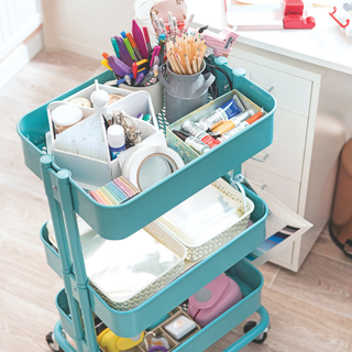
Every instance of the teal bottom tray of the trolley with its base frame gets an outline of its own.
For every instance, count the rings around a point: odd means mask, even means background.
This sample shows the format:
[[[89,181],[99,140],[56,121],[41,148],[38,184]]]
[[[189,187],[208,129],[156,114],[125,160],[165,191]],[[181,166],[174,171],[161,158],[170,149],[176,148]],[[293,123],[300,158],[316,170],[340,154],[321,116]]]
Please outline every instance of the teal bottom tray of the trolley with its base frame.
[[[268,326],[268,315],[266,310],[261,306],[261,289],[263,286],[262,274],[245,260],[242,260],[241,262],[230,267],[226,274],[233,278],[240,285],[244,298],[237,305],[231,307],[229,310],[227,310],[223,315],[213,320],[211,323],[202,328],[196,334],[191,336],[185,342],[176,346],[173,351],[204,351],[212,343],[217,342],[222,336],[232,330],[235,326],[249,318],[255,311],[260,314],[261,322],[226,351],[239,351],[266,329],[266,327]],[[72,338],[74,338],[73,322],[69,316],[67,296],[64,289],[61,290],[56,297],[56,306],[59,311],[61,327]],[[57,336],[55,336],[55,338],[61,344],[59,341],[64,343],[64,338],[59,337],[59,332],[61,329],[57,328]],[[66,351],[65,345],[62,345],[62,348]],[[72,350],[69,348],[67,351],[75,350]],[[135,352],[141,350],[135,349]]]

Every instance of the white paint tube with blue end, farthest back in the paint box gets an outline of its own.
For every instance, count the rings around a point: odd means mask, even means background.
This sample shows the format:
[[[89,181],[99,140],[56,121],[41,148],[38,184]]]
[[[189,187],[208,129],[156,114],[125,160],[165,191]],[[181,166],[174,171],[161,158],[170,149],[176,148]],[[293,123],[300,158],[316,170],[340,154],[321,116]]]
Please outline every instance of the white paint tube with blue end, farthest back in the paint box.
[[[208,117],[201,119],[198,122],[199,128],[202,131],[210,131],[217,125],[221,124],[224,121],[235,117],[237,114],[244,111],[244,107],[242,106],[238,96],[233,96],[232,99],[223,103],[220,108],[212,111]]]

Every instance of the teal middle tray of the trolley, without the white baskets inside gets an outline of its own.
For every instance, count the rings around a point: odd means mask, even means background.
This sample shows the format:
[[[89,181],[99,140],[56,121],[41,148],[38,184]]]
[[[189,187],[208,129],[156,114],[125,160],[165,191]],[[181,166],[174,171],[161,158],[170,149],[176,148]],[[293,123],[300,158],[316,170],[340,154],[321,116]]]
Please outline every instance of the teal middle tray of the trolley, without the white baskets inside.
[[[255,209],[251,215],[252,224],[230,242],[208,255],[205,260],[195,264],[188,271],[162,288],[151,298],[129,311],[112,309],[88,285],[91,309],[116,333],[122,337],[133,337],[153,324],[158,318],[185,301],[197,290],[206,286],[210,280],[222,274],[251,253],[265,239],[265,219],[267,207],[254,193],[245,189],[246,196],[254,202]],[[41,231],[48,265],[63,277],[59,255],[51,245],[46,226]],[[70,274],[72,286],[75,286],[74,274]],[[74,292],[78,300],[78,293]],[[255,311],[256,309],[254,309]]]

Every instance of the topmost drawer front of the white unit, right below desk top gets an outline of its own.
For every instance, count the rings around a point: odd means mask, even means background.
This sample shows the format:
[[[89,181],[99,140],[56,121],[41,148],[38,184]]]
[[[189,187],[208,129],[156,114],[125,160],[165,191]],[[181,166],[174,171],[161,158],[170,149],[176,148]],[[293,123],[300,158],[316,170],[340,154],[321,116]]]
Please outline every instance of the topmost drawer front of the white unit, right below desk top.
[[[229,57],[229,65],[234,68],[244,68],[248,78],[268,90],[276,98],[278,108],[304,117],[309,116],[312,85],[310,80],[235,56]]]

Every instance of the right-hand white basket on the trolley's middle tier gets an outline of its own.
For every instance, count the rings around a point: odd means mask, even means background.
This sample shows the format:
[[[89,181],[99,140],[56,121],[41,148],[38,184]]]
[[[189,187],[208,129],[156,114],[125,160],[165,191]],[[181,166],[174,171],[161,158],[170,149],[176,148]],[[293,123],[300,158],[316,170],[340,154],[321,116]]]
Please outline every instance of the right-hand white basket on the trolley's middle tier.
[[[219,178],[155,222],[187,249],[187,260],[199,261],[241,233],[253,202]]]

